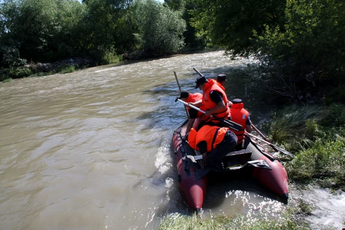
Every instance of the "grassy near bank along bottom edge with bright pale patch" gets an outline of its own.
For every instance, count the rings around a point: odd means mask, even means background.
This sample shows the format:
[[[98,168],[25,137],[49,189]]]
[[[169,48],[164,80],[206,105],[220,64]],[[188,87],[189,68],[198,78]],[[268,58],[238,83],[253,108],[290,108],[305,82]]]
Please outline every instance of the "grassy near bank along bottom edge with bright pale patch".
[[[270,218],[246,215],[207,217],[167,214],[157,230],[342,230],[345,227],[345,194],[330,194],[329,190],[308,186],[303,190],[292,187],[294,204]],[[274,207],[272,207],[274,208]]]

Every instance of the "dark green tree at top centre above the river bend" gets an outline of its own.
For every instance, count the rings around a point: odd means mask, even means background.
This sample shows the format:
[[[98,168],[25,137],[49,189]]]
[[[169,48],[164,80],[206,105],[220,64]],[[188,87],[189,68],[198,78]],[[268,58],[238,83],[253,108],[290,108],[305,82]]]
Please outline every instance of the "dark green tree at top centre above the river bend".
[[[255,53],[254,32],[260,35],[265,25],[280,25],[284,19],[285,0],[187,1],[195,4],[191,23],[197,31],[233,55]]]

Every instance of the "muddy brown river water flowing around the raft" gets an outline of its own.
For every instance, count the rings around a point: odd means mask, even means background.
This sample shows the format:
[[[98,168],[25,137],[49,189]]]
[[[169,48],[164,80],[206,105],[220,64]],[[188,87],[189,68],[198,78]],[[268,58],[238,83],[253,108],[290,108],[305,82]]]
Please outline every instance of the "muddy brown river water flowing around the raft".
[[[190,92],[193,67],[227,74],[229,99],[242,98],[260,127],[272,106],[245,75],[252,62],[213,51],[0,84],[0,229],[155,229],[188,213],[171,149],[186,119],[173,71]],[[316,229],[344,228],[344,195],[290,190],[288,205],[315,206]],[[288,205],[254,180],[211,184],[202,216],[280,218]]]

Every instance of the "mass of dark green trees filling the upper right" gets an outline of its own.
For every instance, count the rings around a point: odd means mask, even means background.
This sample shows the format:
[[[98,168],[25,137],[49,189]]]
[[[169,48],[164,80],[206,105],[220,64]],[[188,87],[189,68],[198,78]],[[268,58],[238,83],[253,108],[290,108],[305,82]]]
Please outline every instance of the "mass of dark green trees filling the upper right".
[[[208,43],[261,61],[256,80],[266,91],[345,102],[343,0],[190,1],[192,25]]]

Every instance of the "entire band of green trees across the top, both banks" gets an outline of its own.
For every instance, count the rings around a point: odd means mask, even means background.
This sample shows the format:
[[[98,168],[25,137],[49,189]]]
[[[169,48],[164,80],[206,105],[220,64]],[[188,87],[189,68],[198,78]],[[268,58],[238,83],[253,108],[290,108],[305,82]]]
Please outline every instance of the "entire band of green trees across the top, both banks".
[[[2,72],[216,46],[256,55],[282,96],[295,97],[304,82],[337,85],[334,94],[345,96],[344,0],[3,0],[0,27]]]

